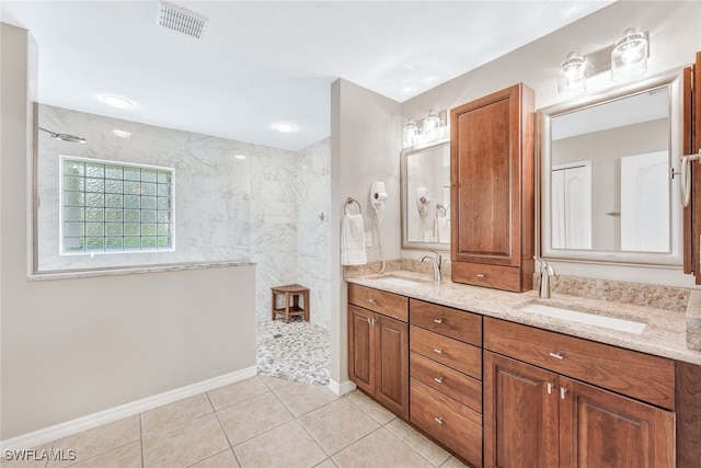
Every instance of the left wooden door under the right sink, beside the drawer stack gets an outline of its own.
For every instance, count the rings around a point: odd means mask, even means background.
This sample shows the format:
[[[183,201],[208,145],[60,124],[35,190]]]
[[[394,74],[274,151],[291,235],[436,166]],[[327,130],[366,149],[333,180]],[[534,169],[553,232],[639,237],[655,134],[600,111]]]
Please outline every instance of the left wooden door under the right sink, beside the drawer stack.
[[[484,466],[556,467],[558,408],[556,374],[484,352]]]

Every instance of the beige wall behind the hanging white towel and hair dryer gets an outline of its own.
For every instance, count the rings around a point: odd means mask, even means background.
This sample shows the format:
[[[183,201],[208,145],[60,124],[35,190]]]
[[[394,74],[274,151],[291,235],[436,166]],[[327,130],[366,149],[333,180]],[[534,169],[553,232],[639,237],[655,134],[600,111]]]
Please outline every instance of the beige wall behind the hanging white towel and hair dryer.
[[[371,229],[370,184],[384,182],[389,198],[381,222],[386,259],[400,255],[400,104],[346,80],[331,85],[331,379],[347,383],[347,289],[341,266],[341,218],[348,196],[363,206]],[[377,239],[368,261],[379,260]]]

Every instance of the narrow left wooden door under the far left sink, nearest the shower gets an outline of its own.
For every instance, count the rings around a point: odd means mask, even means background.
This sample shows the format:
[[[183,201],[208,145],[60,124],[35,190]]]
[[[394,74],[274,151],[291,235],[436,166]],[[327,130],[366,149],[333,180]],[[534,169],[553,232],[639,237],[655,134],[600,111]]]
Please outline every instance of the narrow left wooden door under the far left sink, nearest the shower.
[[[358,388],[369,395],[375,395],[375,319],[374,312],[348,306],[348,376]]]

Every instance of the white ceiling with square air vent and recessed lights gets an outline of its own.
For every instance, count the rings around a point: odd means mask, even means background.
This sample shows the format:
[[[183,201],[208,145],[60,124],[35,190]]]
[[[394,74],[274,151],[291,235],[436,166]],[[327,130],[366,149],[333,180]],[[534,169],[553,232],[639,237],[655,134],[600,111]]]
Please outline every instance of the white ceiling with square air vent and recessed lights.
[[[174,3],[202,38],[157,25],[157,0],[0,0],[0,20],[35,37],[42,103],[299,150],[330,135],[337,78],[403,102],[612,0]]]

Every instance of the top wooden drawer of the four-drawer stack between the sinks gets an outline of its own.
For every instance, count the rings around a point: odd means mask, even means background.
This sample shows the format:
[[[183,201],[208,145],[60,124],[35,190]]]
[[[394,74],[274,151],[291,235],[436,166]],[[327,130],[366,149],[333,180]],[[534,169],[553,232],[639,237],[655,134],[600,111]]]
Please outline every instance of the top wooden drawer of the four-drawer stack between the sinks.
[[[482,346],[482,316],[416,299],[409,310],[411,324]]]

